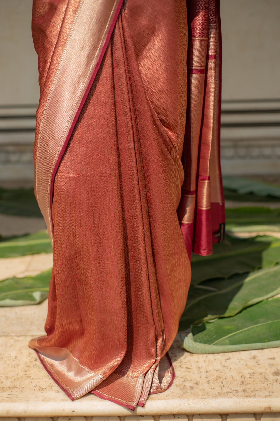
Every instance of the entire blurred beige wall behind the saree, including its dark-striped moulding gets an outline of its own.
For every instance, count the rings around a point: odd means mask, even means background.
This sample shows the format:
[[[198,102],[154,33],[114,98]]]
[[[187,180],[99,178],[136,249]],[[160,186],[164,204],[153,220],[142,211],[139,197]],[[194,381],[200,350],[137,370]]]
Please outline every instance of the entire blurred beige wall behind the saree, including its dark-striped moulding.
[[[280,173],[280,0],[220,2],[222,171]],[[0,180],[33,178],[36,108],[26,106],[38,104],[39,85],[31,11],[32,0],[0,0]]]

